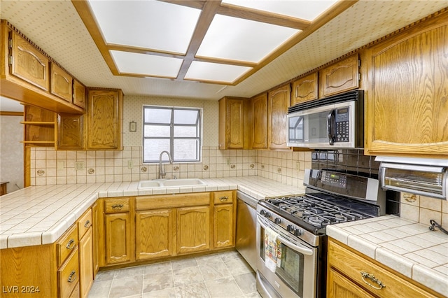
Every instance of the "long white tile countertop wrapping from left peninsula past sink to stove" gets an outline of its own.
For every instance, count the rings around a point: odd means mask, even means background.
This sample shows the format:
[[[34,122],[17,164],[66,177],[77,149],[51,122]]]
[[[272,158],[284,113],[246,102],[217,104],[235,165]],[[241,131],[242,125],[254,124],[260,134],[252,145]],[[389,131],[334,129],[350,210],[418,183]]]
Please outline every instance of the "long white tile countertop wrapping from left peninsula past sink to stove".
[[[241,190],[256,199],[302,194],[304,187],[258,176],[201,179],[206,185],[139,190],[139,182],[31,186],[0,197],[0,249],[55,242],[99,197]]]

